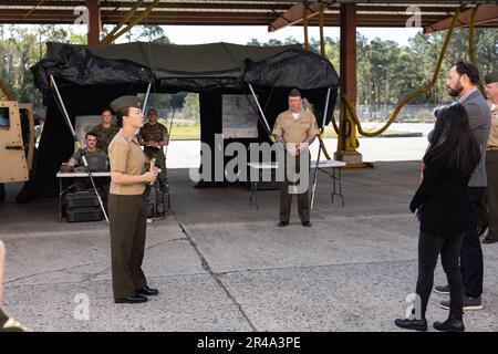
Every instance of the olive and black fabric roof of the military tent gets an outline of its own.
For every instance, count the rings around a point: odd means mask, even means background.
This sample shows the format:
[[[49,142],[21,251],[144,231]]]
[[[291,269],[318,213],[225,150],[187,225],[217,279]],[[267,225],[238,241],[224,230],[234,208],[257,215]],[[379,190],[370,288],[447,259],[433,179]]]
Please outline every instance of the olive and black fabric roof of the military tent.
[[[147,84],[163,91],[236,88],[241,83],[315,90],[338,87],[332,64],[301,45],[230,43],[175,45],[125,43],[72,45],[49,42],[46,58],[32,67],[35,86],[48,93],[48,76],[80,86]]]

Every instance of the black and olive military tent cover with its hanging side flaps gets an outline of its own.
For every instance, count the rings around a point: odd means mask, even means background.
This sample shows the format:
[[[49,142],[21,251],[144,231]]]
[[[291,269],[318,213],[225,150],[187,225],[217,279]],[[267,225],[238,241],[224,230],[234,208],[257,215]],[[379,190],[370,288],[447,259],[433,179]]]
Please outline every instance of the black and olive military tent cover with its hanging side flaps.
[[[320,124],[329,87],[332,92],[325,123],[330,122],[336,102],[339,76],[334,67],[300,45],[144,42],[100,46],[50,42],[46,45],[46,58],[31,67],[35,86],[43,93],[48,106],[31,185],[33,197],[53,195],[55,171],[73,150],[71,135],[49,85],[50,75],[59,84],[73,124],[75,116],[98,114],[123,94],[144,93],[148,83],[153,83],[154,92],[197,92],[201,107],[201,140],[208,144],[214,134],[220,133],[221,95],[227,92],[250,95],[249,83],[266,107],[270,127],[278,113],[287,110],[289,88],[300,88],[314,104]],[[258,140],[268,140],[261,123],[258,131]]]

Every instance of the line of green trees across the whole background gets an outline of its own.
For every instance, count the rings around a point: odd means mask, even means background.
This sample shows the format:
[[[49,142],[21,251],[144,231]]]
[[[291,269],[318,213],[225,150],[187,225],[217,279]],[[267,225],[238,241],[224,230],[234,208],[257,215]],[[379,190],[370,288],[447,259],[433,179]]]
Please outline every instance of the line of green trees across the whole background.
[[[395,30],[395,29],[392,29]],[[103,34],[108,33],[105,27]],[[378,107],[383,104],[395,105],[405,95],[425,86],[432,79],[446,32],[428,35],[417,34],[408,45],[400,45],[390,40],[369,41],[357,35],[357,103]],[[169,43],[167,33],[158,25],[136,27],[125,37],[127,41],[151,41]],[[86,35],[75,33],[71,27],[63,25],[0,25],[0,79],[19,102],[31,102],[41,106],[41,95],[33,86],[30,67],[45,53],[44,43],[85,44]],[[250,45],[283,45],[299,43],[290,37],[283,42],[250,40]],[[320,52],[320,41],[310,40],[311,50]],[[483,76],[498,70],[498,29],[476,29],[476,62]],[[340,73],[340,43],[338,39],[325,38],[325,55]],[[445,55],[442,71],[434,88],[414,103],[437,104],[448,101],[445,88],[446,72],[458,60],[468,60],[468,29],[457,29]],[[162,97],[163,96],[163,97]],[[156,95],[155,105],[172,105],[181,108],[191,104],[181,95]],[[0,94],[1,98],[1,94]]]

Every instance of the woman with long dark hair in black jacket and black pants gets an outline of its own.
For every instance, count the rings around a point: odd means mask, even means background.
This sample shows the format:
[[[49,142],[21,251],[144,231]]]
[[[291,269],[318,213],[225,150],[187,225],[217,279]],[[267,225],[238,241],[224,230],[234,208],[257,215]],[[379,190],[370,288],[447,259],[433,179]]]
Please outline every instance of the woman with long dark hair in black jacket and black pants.
[[[436,124],[423,159],[422,184],[409,204],[409,210],[416,212],[421,221],[416,285],[419,313],[413,313],[408,319],[397,319],[395,324],[407,330],[427,330],[425,312],[440,253],[449,284],[450,310],[448,320],[434,323],[434,327],[439,331],[465,331],[458,257],[469,223],[466,187],[480,160],[480,149],[463,105],[445,105],[434,114]]]

